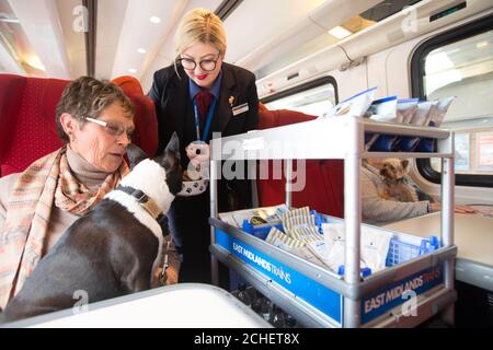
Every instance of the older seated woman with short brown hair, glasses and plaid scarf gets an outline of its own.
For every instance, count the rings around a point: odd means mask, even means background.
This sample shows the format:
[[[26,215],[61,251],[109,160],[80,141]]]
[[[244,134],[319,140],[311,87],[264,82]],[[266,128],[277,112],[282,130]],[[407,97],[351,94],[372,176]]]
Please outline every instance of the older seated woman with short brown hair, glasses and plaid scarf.
[[[65,230],[129,172],[124,155],[134,113],[118,86],[89,77],[71,82],[57,105],[56,125],[65,147],[22,174],[0,178],[0,308]],[[173,248],[168,255],[167,283],[175,283],[179,258]]]

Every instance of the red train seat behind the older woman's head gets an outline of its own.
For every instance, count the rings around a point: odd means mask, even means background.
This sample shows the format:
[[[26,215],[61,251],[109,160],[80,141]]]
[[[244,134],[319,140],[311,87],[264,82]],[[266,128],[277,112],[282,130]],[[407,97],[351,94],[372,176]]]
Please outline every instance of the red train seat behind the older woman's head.
[[[116,83],[121,85],[122,81]],[[0,177],[24,171],[62,145],[56,131],[55,109],[68,83],[68,80],[0,74]],[[144,95],[137,80],[122,89],[135,106],[134,142],[153,155],[158,147],[158,120],[152,101]]]

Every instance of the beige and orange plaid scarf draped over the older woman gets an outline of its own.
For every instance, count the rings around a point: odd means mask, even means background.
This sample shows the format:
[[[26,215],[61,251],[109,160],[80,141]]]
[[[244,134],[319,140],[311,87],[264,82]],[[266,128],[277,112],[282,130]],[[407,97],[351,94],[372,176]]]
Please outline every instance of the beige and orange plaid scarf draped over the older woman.
[[[19,177],[7,205],[0,236],[0,307],[4,308],[42,258],[53,205],[76,215],[92,209],[129,172],[123,162],[98,192],[72,175],[61,148],[31,164]]]

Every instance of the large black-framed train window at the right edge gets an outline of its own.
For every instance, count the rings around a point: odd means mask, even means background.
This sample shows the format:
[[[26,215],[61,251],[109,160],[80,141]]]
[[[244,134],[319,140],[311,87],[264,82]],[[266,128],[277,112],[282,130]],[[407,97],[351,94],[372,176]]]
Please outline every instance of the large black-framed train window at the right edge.
[[[484,22],[486,21],[486,22]],[[442,125],[456,131],[456,184],[493,186],[493,25],[491,16],[424,43],[412,60],[413,95],[456,96]],[[420,160],[439,182],[440,160]]]

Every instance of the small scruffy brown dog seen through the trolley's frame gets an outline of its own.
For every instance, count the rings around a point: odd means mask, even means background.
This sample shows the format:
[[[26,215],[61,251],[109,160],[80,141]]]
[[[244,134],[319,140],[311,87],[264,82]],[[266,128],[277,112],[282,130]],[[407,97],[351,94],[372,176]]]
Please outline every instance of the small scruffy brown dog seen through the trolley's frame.
[[[417,201],[416,189],[408,183],[406,178],[409,161],[389,158],[382,163],[380,175],[383,177],[383,183],[378,190],[380,197],[394,201]]]

